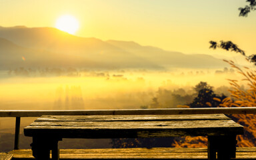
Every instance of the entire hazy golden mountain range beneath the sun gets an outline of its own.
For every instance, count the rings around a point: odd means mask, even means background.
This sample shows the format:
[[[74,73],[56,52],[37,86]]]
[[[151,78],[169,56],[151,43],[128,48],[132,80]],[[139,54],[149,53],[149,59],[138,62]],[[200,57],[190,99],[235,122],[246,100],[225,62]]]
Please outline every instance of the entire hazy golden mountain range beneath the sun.
[[[226,66],[209,55],[185,55],[132,41],[77,37],[52,27],[0,27],[0,57],[1,69],[10,66],[95,69]]]

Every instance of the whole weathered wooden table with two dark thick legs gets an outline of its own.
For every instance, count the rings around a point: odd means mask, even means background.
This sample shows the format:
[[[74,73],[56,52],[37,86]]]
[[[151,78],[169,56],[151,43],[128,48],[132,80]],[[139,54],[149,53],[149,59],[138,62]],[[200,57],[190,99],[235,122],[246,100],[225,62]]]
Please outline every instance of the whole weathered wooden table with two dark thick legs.
[[[52,150],[59,159],[62,138],[147,138],[206,135],[208,159],[235,157],[238,125],[223,114],[215,115],[44,115],[25,127],[35,159],[47,160]]]

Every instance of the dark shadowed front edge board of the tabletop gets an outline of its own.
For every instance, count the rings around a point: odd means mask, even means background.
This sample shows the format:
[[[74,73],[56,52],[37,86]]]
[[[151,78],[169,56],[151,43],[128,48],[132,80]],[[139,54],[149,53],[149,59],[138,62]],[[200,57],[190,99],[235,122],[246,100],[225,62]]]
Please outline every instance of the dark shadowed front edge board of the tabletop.
[[[165,127],[165,126],[164,126]],[[187,135],[234,135],[243,134],[241,127],[198,128],[163,128],[163,129],[90,129],[88,127],[63,126],[29,126],[25,127],[26,136],[60,137],[60,138],[146,138],[146,137],[184,137]]]

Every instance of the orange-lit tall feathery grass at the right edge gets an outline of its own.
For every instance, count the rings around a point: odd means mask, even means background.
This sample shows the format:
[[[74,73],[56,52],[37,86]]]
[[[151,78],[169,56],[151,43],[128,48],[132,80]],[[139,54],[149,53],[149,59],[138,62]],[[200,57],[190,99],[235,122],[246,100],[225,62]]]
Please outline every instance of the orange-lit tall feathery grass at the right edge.
[[[249,69],[248,67],[239,67],[235,65],[233,61],[226,61],[237,70],[237,73],[241,75],[241,80],[229,79],[229,83],[232,86],[231,97],[227,97],[221,101],[220,107],[251,107],[256,106],[256,75],[255,69]],[[239,83],[246,81],[247,89],[242,89]],[[238,136],[237,145],[239,147],[255,147],[256,146],[256,115],[229,115],[231,119],[240,123],[245,128],[244,135]]]

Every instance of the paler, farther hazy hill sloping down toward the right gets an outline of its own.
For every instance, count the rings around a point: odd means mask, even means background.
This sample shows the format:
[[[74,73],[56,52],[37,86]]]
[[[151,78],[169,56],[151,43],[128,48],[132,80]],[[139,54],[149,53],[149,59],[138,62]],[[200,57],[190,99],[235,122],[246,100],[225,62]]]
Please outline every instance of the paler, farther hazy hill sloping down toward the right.
[[[133,41],[107,41],[111,45],[125,49],[163,67],[217,68],[227,66],[221,59],[211,55],[185,55],[181,52],[165,51],[151,46],[141,46]]]

